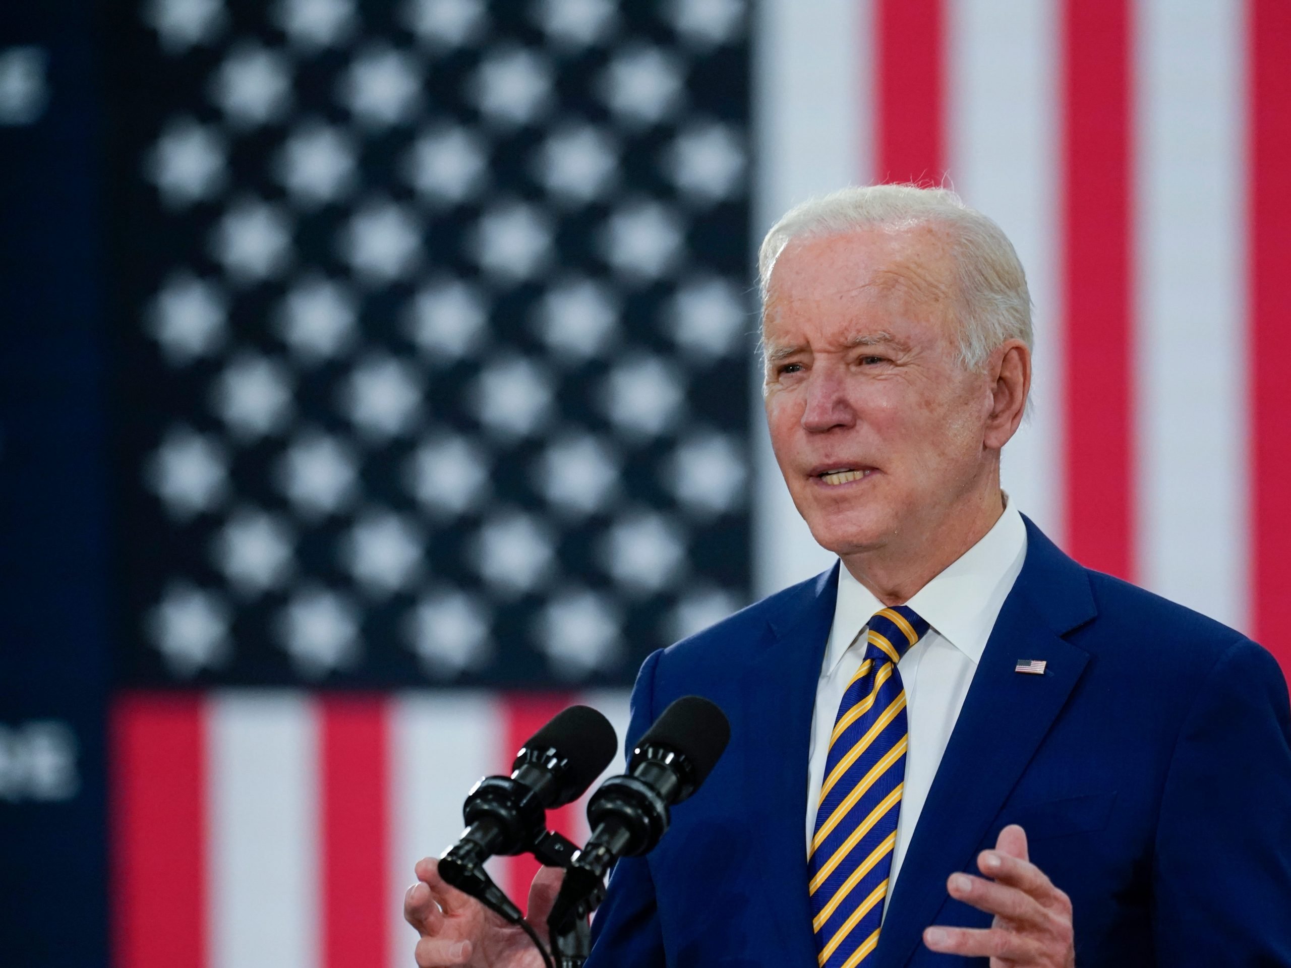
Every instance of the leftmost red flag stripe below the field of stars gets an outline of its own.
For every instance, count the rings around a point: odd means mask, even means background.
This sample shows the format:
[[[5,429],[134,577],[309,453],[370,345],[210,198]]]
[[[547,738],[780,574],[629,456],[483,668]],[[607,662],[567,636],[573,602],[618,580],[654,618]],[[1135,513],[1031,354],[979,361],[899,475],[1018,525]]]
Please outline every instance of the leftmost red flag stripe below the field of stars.
[[[203,968],[201,701],[124,696],[112,710],[110,742],[114,960],[128,968]]]

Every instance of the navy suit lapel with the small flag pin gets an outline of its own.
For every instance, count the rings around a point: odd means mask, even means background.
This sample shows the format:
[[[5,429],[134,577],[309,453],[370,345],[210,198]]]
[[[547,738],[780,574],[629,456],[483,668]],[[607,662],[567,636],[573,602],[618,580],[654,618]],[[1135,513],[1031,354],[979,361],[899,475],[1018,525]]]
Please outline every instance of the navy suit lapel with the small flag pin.
[[[1095,614],[1083,569],[1030,521],[1028,552],[991,631],[910,848],[902,861],[875,960],[896,968],[922,943],[946,902],[946,878],[964,870],[1088,662],[1061,636]],[[1042,660],[1020,675],[1017,660]]]

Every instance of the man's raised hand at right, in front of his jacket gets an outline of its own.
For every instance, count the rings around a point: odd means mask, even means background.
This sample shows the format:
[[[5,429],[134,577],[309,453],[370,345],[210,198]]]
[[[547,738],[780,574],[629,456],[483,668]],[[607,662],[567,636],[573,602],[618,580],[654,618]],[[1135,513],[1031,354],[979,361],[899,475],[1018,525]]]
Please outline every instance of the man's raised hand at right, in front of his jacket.
[[[1028,860],[1026,834],[1015,825],[999,831],[994,851],[977,869],[991,880],[951,874],[950,896],[994,914],[990,928],[928,928],[923,943],[951,955],[990,958],[990,968],[1075,968],[1072,898]]]

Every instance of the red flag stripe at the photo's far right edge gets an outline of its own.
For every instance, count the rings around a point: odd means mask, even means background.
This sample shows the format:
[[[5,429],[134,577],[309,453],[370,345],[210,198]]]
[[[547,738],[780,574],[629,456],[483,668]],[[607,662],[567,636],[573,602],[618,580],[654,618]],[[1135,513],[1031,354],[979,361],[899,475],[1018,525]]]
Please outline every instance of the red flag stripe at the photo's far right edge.
[[[1254,634],[1291,674],[1291,4],[1251,0],[1247,30]]]

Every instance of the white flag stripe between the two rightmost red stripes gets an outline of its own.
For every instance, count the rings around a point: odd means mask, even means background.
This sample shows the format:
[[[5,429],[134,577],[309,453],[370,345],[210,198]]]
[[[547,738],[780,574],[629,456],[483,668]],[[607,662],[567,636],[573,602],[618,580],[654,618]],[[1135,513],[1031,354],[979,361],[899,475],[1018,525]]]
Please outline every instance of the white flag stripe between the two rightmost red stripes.
[[[1137,14],[1139,578],[1248,627],[1241,5]]]

